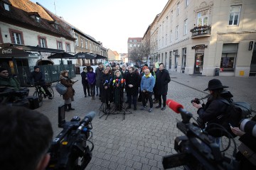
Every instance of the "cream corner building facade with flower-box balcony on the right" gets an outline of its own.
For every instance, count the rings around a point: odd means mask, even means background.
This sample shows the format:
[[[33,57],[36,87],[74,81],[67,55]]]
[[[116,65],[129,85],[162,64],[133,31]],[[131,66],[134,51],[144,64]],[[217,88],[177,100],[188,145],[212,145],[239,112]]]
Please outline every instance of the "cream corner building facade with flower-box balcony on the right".
[[[255,7],[253,0],[169,0],[157,18],[159,62],[185,74],[255,75]]]

